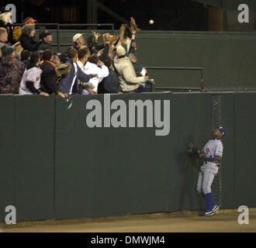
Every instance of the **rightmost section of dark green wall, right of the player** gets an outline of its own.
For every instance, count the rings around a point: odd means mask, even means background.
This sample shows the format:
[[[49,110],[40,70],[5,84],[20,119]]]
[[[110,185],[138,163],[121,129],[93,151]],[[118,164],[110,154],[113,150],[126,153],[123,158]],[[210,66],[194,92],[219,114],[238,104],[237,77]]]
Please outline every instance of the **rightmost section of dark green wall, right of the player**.
[[[234,96],[234,204],[255,206],[255,95]]]

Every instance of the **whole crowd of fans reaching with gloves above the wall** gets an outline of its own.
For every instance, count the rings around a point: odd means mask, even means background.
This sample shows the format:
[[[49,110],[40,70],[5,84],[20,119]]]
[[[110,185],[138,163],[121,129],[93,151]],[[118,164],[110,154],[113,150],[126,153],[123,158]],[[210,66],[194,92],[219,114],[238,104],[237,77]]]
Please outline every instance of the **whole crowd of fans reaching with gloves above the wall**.
[[[145,91],[147,70],[137,64],[135,36],[140,30],[131,18],[119,36],[77,33],[64,53],[51,47],[53,36],[44,27],[35,39],[36,20],[24,19],[13,28],[10,12],[0,15],[0,94],[96,95]]]

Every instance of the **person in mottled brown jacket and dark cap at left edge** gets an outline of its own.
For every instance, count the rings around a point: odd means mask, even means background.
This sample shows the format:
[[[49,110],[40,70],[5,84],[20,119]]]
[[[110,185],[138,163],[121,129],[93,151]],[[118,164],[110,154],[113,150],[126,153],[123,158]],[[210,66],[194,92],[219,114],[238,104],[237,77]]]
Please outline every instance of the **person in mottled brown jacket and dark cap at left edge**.
[[[18,94],[25,64],[16,60],[16,47],[2,47],[0,94]]]

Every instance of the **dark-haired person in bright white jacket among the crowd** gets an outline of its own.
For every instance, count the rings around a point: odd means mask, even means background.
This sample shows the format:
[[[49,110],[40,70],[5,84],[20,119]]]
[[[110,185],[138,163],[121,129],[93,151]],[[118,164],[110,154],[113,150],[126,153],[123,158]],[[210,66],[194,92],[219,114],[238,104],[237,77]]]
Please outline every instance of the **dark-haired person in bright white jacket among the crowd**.
[[[103,80],[104,77],[109,76],[109,69],[99,60],[96,54],[92,54],[88,57],[88,61],[85,64],[86,74],[98,74],[98,77],[91,78],[89,83],[92,83],[95,88],[94,91],[98,91],[98,85]]]

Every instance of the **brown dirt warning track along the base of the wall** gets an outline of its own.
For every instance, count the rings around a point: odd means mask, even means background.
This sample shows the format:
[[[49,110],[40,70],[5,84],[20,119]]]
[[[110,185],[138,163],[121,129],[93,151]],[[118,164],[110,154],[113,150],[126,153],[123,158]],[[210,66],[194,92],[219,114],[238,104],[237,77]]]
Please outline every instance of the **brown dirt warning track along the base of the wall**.
[[[256,232],[256,208],[249,212],[249,224],[240,225],[237,210],[220,210],[199,217],[199,212],[173,212],[71,220],[0,224],[2,232]]]

